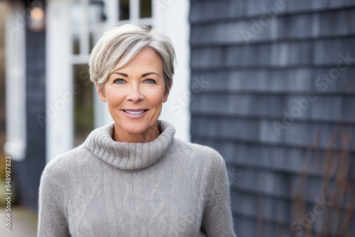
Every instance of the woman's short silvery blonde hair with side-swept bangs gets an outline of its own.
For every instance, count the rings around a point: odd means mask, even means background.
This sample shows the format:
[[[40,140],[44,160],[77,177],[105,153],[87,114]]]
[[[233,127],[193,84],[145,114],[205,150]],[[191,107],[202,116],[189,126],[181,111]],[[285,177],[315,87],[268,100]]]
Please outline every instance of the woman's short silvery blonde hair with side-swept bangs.
[[[90,55],[90,80],[101,90],[112,72],[129,63],[141,50],[155,50],[163,62],[165,92],[173,84],[175,50],[170,38],[146,26],[124,26],[112,28],[102,35]]]

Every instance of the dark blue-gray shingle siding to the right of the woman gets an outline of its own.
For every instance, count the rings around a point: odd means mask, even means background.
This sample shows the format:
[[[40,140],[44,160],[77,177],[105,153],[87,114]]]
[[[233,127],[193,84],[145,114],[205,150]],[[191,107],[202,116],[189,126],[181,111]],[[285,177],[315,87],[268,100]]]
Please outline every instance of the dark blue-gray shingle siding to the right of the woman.
[[[239,237],[305,236],[294,221],[322,197],[334,208],[312,233],[339,233],[355,199],[355,1],[285,0],[268,20],[275,2],[191,1],[192,141],[226,160]],[[354,234],[352,216],[339,236]]]

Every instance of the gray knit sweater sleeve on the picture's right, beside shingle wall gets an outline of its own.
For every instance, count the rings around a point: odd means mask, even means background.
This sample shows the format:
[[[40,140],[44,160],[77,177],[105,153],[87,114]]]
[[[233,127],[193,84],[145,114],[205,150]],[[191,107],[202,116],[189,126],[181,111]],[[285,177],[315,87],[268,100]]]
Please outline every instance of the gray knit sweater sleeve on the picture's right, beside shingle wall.
[[[218,154],[219,164],[212,172],[208,189],[210,189],[209,200],[204,209],[202,219],[202,231],[209,236],[236,237],[233,228],[233,217],[231,215],[231,201],[229,194],[229,181],[226,171],[226,164],[221,155]],[[214,167],[212,167],[214,170]]]

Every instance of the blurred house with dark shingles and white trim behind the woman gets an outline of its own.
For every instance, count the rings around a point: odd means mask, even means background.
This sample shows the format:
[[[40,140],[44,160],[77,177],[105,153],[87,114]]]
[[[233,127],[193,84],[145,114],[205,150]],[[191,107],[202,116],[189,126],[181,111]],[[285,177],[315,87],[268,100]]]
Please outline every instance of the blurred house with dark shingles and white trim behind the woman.
[[[87,62],[133,23],[173,40],[160,118],[223,155],[239,237],[355,236],[355,0],[1,0],[0,13],[0,152],[18,204],[36,210],[45,164],[111,122]]]

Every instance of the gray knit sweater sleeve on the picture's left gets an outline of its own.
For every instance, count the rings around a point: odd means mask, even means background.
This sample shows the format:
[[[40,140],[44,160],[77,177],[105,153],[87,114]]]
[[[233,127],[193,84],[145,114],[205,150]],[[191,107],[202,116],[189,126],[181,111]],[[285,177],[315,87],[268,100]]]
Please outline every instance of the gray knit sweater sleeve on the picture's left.
[[[52,168],[53,165],[48,163],[40,178],[38,237],[70,236],[64,211],[65,184],[62,175],[56,175]]]

